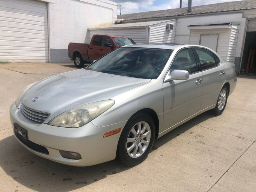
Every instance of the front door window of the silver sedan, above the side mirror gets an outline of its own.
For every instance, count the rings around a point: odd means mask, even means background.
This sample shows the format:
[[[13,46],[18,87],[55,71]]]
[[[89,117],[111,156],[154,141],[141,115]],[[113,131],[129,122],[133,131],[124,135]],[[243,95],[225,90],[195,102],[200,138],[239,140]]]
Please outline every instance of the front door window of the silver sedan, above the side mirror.
[[[191,48],[182,49],[175,56],[170,71],[175,69],[186,70],[189,74],[197,72],[196,59]]]

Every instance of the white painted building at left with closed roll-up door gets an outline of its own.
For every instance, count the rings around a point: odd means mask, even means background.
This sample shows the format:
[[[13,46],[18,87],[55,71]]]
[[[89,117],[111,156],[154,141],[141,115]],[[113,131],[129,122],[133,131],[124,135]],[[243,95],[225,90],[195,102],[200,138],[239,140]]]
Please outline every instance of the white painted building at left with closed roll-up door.
[[[70,62],[68,43],[88,41],[87,29],[113,24],[108,0],[1,0],[0,62]]]

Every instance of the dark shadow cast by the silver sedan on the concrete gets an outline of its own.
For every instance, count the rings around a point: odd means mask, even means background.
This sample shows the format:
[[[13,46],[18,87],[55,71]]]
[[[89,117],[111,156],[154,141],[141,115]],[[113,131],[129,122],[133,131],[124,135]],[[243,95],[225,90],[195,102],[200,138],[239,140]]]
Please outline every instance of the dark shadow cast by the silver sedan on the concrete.
[[[210,112],[205,112],[195,117],[193,122],[199,124],[212,117],[214,116]],[[194,124],[188,121],[155,140],[148,158],[154,156],[154,151],[159,150],[168,141],[177,136],[182,137],[182,133],[193,126]],[[7,175],[19,184],[36,191],[70,191],[131,168],[120,164],[117,160],[89,167],[55,163],[26,150],[13,135],[0,141],[0,157],[0,166]],[[120,185],[126,185],[125,180]],[[18,187],[16,186],[16,189]]]

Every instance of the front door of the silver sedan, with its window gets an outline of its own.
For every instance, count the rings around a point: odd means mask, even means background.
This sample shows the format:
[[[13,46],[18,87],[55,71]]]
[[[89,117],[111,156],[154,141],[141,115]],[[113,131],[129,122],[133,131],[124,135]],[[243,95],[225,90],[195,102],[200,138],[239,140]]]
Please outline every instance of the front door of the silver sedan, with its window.
[[[164,131],[175,128],[177,124],[200,110],[203,75],[199,71],[199,65],[192,48],[181,49],[176,54],[170,72],[175,69],[187,70],[189,78],[163,83]]]

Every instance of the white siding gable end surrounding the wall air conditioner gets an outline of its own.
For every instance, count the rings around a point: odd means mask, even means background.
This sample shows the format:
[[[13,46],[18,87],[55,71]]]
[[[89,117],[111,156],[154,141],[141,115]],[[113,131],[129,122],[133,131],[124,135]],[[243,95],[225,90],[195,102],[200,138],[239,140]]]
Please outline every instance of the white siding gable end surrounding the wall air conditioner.
[[[166,30],[166,23],[173,24],[173,30]],[[176,20],[150,26],[149,43],[174,43]]]

